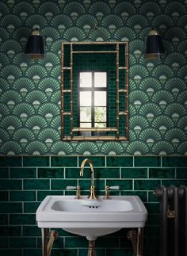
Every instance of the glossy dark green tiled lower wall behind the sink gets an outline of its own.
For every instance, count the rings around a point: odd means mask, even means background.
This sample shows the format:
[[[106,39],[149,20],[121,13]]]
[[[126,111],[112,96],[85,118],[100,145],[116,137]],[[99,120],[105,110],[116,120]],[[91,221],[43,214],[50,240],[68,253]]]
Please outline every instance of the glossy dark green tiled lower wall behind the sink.
[[[35,164],[31,167],[33,159]],[[40,228],[36,209],[47,195],[75,195],[67,185],[80,185],[82,195],[90,191],[90,168],[80,177],[83,156],[1,156],[0,157],[0,255],[41,255]],[[159,202],[153,194],[160,185],[187,185],[186,156],[90,156],[94,162],[97,195],[105,185],[120,185],[111,195],[138,195],[148,211],[144,235],[144,256],[158,255]],[[10,162],[10,166],[8,166]],[[17,162],[13,166],[12,162]],[[71,166],[69,164],[71,162]],[[6,166],[6,167],[5,167]],[[86,238],[61,229],[52,255],[84,256]],[[99,256],[132,256],[128,229],[98,238]],[[150,245],[151,243],[151,245]]]

